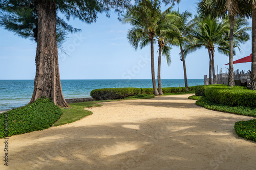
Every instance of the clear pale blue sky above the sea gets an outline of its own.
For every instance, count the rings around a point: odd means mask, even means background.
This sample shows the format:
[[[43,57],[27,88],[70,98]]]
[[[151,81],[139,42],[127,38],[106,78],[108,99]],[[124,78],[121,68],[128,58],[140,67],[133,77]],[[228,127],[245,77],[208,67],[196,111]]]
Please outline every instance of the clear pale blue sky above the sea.
[[[182,0],[174,9],[188,10],[196,14],[196,0]],[[167,6],[169,7],[169,6]],[[163,9],[167,8],[163,7]],[[249,19],[251,26],[251,19]],[[68,21],[82,31],[69,34],[59,53],[60,79],[151,79],[150,46],[135,51],[126,34],[131,26],[123,24],[112,13],[107,18],[98,14],[96,23],[88,25],[79,19]],[[250,33],[251,35],[251,33]],[[35,78],[36,43],[23,39],[13,32],[0,27],[0,80],[33,80]],[[157,78],[158,47],[155,45],[155,72]],[[234,60],[251,54],[251,40],[236,49]],[[172,63],[167,65],[162,57],[161,79],[184,79],[183,65],[179,57],[180,49],[173,47],[170,55]],[[186,58],[188,79],[204,79],[209,72],[209,56],[205,48],[191,53]],[[215,70],[226,72],[228,57],[215,53]],[[251,69],[251,63],[234,64],[234,70]]]

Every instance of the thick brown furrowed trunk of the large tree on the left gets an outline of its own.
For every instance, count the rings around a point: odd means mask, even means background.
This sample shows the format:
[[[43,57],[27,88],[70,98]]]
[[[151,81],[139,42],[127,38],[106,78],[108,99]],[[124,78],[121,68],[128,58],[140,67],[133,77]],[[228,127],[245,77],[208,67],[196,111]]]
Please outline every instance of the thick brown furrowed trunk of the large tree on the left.
[[[65,101],[59,77],[56,41],[56,3],[49,0],[35,1],[38,15],[36,48],[36,74],[34,92],[30,103],[45,96],[58,106],[69,107]]]

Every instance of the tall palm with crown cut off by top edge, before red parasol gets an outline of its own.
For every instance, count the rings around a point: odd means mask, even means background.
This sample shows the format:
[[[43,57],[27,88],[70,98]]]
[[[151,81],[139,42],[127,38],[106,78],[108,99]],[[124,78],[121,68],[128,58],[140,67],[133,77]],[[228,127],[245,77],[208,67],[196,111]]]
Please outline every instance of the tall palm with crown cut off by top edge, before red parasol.
[[[246,1],[246,0],[245,0]],[[255,1],[255,0],[251,0]],[[205,15],[225,16],[228,14],[230,19],[230,33],[229,33],[229,86],[233,86],[233,30],[234,18],[236,16],[248,15],[248,6],[241,0],[201,0],[198,3],[198,10]],[[256,65],[255,65],[256,66]],[[255,67],[256,69],[256,67]]]

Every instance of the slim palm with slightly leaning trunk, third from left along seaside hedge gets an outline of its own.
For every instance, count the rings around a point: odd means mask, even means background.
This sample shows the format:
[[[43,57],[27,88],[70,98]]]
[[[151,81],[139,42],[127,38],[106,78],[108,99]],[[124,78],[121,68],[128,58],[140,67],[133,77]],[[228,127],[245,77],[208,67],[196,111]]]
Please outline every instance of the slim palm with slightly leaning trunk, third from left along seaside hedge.
[[[186,87],[186,91],[188,91],[186,63],[185,63],[183,47],[186,44],[186,42],[189,42],[187,36],[190,34],[190,30],[191,30],[191,27],[193,27],[193,24],[191,24],[191,22],[188,22],[188,19],[189,17],[191,17],[192,14],[188,11],[180,13],[179,10],[173,11],[173,14],[179,16],[180,20],[176,22],[178,31],[176,32],[176,36],[173,37],[171,43],[172,45],[180,47],[180,55],[183,63],[185,87]]]

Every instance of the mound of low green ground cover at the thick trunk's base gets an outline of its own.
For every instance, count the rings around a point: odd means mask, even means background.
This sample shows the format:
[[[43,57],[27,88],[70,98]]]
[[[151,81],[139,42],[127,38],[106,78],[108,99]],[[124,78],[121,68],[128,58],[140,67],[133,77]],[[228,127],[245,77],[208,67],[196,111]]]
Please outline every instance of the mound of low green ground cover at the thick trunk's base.
[[[6,117],[8,136],[12,136],[47,129],[59,119],[61,114],[60,108],[50,99],[37,99],[30,105],[0,114],[0,138],[6,137],[4,128]]]

